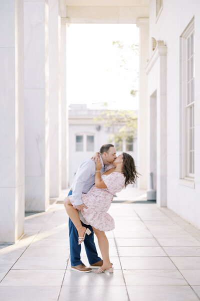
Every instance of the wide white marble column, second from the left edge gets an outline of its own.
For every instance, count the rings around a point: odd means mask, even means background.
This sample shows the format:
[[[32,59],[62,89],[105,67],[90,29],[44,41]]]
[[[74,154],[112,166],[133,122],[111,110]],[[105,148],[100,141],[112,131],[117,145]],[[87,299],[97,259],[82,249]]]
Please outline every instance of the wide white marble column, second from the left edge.
[[[48,2],[24,1],[25,210],[49,205]]]

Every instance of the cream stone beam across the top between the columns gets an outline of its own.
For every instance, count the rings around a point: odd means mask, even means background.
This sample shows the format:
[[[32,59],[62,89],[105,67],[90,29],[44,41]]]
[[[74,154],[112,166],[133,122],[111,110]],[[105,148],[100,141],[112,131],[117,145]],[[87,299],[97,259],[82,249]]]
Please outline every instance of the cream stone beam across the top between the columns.
[[[67,23],[137,23],[148,11],[149,0],[60,0]]]

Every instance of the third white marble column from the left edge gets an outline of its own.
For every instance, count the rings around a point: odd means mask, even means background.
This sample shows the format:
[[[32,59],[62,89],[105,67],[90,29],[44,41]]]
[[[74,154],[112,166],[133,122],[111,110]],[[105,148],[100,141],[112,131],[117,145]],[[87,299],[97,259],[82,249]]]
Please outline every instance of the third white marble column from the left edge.
[[[60,17],[58,0],[49,8],[49,158],[50,197],[61,192]]]

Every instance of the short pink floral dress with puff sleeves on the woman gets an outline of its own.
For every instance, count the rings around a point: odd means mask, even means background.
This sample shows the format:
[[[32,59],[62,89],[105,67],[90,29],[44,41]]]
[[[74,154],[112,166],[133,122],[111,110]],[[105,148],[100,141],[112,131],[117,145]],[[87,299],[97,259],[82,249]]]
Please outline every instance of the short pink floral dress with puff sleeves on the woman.
[[[112,168],[109,164],[106,170]],[[100,231],[110,231],[114,229],[114,220],[107,213],[116,192],[120,192],[124,187],[125,177],[123,174],[113,172],[109,175],[101,175],[101,179],[107,188],[97,188],[95,184],[90,188],[87,194],[82,194],[81,200],[87,209],[84,208],[82,216],[95,229]],[[73,195],[69,196],[70,202],[74,208]]]

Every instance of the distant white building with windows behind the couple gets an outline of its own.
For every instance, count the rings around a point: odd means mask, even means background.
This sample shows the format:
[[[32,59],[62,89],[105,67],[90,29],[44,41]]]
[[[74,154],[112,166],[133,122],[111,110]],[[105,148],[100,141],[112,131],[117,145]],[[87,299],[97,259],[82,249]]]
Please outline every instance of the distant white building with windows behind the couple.
[[[68,111],[68,186],[70,187],[73,177],[80,163],[91,158],[95,152],[99,152],[100,147],[105,143],[115,145],[118,156],[122,152],[133,157],[137,165],[137,138],[129,137],[121,142],[110,141],[110,134],[116,133],[118,126],[104,127],[104,120],[95,121],[103,110],[88,109],[86,104],[70,105]]]

